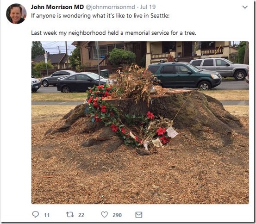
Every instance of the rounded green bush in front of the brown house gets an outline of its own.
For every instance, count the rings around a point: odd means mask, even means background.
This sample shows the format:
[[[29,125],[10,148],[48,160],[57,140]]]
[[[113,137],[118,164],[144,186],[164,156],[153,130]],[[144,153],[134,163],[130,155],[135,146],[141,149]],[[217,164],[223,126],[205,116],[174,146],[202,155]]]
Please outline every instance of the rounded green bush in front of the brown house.
[[[135,62],[136,55],[129,51],[129,50],[123,50],[123,49],[113,49],[109,53],[109,59],[113,65],[120,65],[120,64],[131,64]]]

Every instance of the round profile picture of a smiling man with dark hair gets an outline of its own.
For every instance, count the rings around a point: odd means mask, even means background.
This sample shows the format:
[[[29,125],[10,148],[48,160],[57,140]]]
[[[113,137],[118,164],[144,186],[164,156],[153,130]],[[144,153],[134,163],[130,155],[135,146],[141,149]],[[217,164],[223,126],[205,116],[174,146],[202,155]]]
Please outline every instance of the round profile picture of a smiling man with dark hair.
[[[6,10],[7,19],[13,24],[20,24],[24,22],[27,12],[24,6],[20,4],[12,4]]]

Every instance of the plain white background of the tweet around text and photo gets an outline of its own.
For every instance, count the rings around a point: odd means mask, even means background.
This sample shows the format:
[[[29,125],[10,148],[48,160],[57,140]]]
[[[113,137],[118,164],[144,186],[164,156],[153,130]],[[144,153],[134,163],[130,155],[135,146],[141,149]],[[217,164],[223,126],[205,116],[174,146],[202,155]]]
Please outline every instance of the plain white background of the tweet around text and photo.
[[[31,5],[156,5],[155,10],[31,10]],[[108,2],[108,3],[107,3]],[[128,2],[128,1],[126,1]],[[19,25],[6,19],[10,4],[25,6]],[[243,6],[248,6],[246,9]],[[254,221],[254,1],[130,0],[1,1],[1,222],[252,222]],[[32,19],[31,13],[167,13],[169,19]],[[196,36],[31,36],[31,31],[195,31]],[[250,203],[248,205],[32,205],[31,204],[31,42],[32,41],[249,41]],[[38,211],[37,218],[32,216]],[[66,212],[76,216],[67,218]],[[122,212],[102,218],[100,212]],[[135,212],[143,219],[135,219]],[[77,217],[79,212],[85,218]],[[50,213],[50,218],[44,218]]]

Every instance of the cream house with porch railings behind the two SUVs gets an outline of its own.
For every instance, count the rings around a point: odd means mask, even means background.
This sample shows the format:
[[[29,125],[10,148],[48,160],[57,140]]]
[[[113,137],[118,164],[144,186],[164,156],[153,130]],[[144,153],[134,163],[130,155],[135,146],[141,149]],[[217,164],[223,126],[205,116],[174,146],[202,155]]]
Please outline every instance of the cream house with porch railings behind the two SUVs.
[[[146,66],[167,61],[169,56],[190,62],[199,57],[224,57],[235,61],[237,48],[230,41],[149,41],[146,45]]]

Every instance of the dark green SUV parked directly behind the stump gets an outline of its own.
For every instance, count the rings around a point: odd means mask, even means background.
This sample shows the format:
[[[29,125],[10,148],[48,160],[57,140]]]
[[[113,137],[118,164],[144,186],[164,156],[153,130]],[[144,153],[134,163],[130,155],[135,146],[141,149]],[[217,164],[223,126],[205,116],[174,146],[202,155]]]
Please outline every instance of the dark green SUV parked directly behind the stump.
[[[147,70],[161,81],[162,87],[193,87],[208,90],[217,87],[222,81],[218,72],[201,71],[188,62],[151,64]]]

